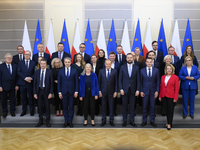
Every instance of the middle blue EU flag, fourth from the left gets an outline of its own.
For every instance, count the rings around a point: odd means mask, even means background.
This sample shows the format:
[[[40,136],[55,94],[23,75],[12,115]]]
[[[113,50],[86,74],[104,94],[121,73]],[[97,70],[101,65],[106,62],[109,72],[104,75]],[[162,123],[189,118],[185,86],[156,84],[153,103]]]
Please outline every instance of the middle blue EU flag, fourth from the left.
[[[117,41],[116,41],[116,35],[115,35],[115,26],[114,26],[114,20],[112,20],[112,25],[110,29],[110,36],[108,39],[108,47],[107,47],[107,54],[111,51],[114,51],[117,54]]]

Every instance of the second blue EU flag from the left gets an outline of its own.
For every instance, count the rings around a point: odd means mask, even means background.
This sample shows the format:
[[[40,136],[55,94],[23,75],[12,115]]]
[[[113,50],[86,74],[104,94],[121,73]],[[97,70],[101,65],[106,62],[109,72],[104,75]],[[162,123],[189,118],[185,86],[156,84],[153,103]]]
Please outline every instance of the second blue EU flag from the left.
[[[62,30],[62,36],[61,36],[60,42],[64,44],[64,52],[67,52],[70,55],[69,41],[68,41],[68,36],[67,36],[67,28],[66,28],[65,20],[63,24],[63,30]]]

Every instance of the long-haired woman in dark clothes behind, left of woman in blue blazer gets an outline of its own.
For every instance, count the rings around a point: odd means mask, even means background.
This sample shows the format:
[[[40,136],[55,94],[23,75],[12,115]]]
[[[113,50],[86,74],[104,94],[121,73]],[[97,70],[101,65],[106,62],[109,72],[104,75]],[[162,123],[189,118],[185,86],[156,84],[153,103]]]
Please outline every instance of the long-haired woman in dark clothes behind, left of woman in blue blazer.
[[[78,72],[78,78],[80,79],[80,75],[83,72],[83,69],[85,68],[85,61],[81,54],[77,54],[75,57],[75,63],[72,64],[72,67],[75,68]],[[76,115],[83,115],[83,101],[80,101],[79,98],[75,98],[77,103],[78,111]]]

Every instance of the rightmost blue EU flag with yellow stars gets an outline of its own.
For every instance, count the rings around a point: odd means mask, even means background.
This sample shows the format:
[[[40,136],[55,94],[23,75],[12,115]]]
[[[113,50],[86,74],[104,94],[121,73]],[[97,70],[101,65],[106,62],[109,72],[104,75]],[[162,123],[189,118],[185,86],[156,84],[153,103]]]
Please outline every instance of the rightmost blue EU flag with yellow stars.
[[[188,45],[190,45],[192,47],[192,49],[193,49],[192,35],[191,35],[191,30],[190,30],[190,21],[189,21],[189,19],[187,21],[187,27],[186,27],[186,31],[185,31],[185,37],[184,37],[183,46],[182,46],[182,54],[184,54],[185,48]]]

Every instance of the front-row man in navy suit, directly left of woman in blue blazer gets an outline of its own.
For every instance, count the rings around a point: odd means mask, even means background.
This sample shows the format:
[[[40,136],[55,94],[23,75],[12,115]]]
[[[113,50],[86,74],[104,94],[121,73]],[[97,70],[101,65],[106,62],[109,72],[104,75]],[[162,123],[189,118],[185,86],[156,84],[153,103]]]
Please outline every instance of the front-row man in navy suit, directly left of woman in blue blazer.
[[[74,116],[74,97],[78,97],[78,73],[76,69],[71,67],[71,63],[71,58],[66,57],[64,59],[65,67],[58,73],[58,94],[63,102],[64,128],[68,125],[70,128],[74,127],[72,123]]]

